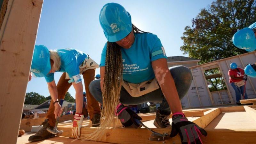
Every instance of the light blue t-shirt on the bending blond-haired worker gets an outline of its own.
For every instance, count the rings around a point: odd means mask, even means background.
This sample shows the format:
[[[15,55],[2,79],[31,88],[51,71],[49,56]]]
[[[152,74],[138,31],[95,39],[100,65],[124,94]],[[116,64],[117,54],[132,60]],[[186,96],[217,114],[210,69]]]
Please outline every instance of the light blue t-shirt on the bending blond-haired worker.
[[[57,50],[60,56],[60,69],[59,72],[67,72],[68,76],[71,78],[73,76],[79,75],[79,66],[83,63],[88,55],[76,49],[60,49]],[[54,73],[50,73],[44,76],[46,82],[50,83],[54,80]]]

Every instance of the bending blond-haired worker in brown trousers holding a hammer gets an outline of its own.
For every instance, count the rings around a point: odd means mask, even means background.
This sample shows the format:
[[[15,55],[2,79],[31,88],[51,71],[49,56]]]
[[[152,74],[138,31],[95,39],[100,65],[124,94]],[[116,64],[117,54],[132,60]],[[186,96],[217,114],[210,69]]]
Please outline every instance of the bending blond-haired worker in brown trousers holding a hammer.
[[[56,117],[60,116],[62,113],[59,100],[64,99],[71,85],[73,85],[76,91],[76,114],[73,121],[72,136],[79,138],[83,122],[83,85],[81,74],[84,78],[88,100],[87,106],[92,123],[100,123],[100,107],[88,90],[90,82],[94,80],[95,68],[98,67],[99,65],[96,62],[79,50],[59,49],[57,51],[49,51],[44,45],[35,46],[31,72],[36,77],[45,77],[52,100],[46,115],[47,119],[45,119],[43,123],[43,128],[35,135],[30,136],[29,141],[38,141],[54,137],[46,128],[54,127]],[[54,73],[57,71],[63,72],[63,74],[56,85]]]

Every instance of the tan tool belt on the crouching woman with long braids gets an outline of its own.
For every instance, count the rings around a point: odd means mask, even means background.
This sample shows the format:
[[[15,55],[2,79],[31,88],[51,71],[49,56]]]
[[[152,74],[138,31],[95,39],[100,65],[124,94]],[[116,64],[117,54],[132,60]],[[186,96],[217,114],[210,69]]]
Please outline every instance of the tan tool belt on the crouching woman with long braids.
[[[149,81],[145,81],[139,84],[132,84],[127,81],[122,81],[122,86],[132,97],[140,97],[149,92],[153,92],[159,89],[156,77]]]

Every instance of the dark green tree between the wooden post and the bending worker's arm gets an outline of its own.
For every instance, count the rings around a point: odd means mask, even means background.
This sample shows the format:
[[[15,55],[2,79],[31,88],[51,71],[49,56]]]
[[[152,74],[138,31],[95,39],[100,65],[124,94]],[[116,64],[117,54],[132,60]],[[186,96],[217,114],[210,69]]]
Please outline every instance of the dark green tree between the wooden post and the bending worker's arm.
[[[27,92],[24,104],[40,105],[46,101],[46,98],[36,92]]]

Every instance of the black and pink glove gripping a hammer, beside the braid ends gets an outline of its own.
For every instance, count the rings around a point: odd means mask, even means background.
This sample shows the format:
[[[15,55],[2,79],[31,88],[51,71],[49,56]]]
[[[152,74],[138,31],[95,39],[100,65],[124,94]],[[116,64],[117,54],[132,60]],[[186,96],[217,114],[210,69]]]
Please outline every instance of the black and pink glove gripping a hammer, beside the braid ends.
[[[133,128],[140,127],[140,125],[137,124],[134,119],[136,118],[138,120],[142,120],[142,118],[140,116],[138,116],[130,108],[119,103],[116,107],[116,111],[117,111],[116,115],[117,115],[118,119],[120,119],[120,121],[124,127],[133,127]]]

